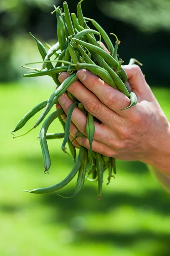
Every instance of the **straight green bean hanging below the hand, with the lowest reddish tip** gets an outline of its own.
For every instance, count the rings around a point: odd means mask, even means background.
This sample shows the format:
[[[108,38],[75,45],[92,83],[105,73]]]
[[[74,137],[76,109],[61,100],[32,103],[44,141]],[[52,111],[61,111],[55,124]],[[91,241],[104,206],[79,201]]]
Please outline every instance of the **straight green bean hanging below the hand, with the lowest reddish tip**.
[[[98,179],[98,194],[97,200],[102,198],[102,183],[103,183],[103,163],[101,154],[96,153],[96,164],[97,164],[97,179]]]

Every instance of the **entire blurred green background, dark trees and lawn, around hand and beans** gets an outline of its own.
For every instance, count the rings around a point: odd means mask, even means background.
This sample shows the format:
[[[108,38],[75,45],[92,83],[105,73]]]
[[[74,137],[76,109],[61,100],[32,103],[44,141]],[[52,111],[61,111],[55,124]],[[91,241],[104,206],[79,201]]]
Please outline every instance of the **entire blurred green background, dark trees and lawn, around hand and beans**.
[[[68,0],[70,12],[76,12],[77,3]],[[59,182],[73,166],[61,152],[62,140],[52,140],[52,165],[45,175],[39,128],[15,140],[10,134],[54,91],[50,77],[23,78],[28,72],[21,68],[41,61],[29,31],[43,43],[57,41],[53,4],[62,6],[62,1],[0,0],[0,255],[169,256],[170,196],[142,163],[117,161],[109,186],[105,174],[101,201],[96,200],[97,184],[89,181],[72,199],[23,192]],[[84,0],[82,11],[118,36],[125,64],[130,58],[143,63],[146,80],[170,120],[170,0]],[[62,132],[58,121],[49,130],[56,131]],[[73,194],[75,184],[76,179],[61,193]]]

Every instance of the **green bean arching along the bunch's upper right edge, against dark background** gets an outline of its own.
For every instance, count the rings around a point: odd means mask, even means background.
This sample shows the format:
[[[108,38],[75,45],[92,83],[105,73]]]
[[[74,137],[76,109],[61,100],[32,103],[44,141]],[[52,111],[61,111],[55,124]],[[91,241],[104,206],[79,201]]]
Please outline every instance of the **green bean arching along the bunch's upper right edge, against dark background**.
[[[111,39],[108,37],[108,34],[105,32],[104,29],[93,19],[85,18],[85,20],[90,20],[91,23],[94,25],[94,27],[100,32],[103,40],[105,41],[105,44],[107,45],[109,51],[111,52],[111,55],[113,54],[114,47],[111,42]]]

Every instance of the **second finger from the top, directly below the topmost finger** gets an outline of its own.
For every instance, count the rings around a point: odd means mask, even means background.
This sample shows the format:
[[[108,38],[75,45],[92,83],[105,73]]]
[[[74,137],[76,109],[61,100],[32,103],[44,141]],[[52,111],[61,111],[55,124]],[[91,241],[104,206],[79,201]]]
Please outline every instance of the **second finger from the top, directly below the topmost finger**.
[[[94,75],[95,76],[95,75]],[[59,76],[59,81],[63,79],[64,76]],[[97,76],[95,76],[96,80],[100,80]],[[98,83],[96,81],[96,83]],[[101,80],[102,81],[102,80]],[[69,88],[68,91],[73,94],[79,102],[81,102],[85,109],[91,113],[93,116],[98,118],[104,125],[109,125],[108,120],[111,118],[115,118],[117,116],[116,113],[113,113],[110,108],[102,104],[102,102],[92,93],[89,91],[80,81],[74,82]],[[66,103],[67,104],[67,103]],[[63,106],[62,106],[63,107]],[[65,107],[64,107],[65,108]],[[67,109],[67,107],[66,107]],[[66,110],[67,111],[67,110]],[[86,116],[85,116],[86,118]],[[74,122],[74,119],[72,119]],[[80,122],[80,120],[78,120]],[[99,124],[98,124],[99,125]],[[77,123],[76,123],[77,126]]]

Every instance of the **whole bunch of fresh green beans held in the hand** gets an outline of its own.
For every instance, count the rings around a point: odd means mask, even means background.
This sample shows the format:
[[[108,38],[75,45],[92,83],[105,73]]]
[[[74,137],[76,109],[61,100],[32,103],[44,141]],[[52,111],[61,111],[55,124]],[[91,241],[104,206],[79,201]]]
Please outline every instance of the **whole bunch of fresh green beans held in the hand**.
[[[38,50],[42,57],[42,68],[38,69],[31,67],[30,70],[34,70],[34,72],[30,71],[30,73],[23,76],[51,76],[57,85],[57,89],[54,91],[54,93],[51,94],[51,96],[48,97],[47,100],[41,102],[31,111],[26,113],[26,115],[17,123],[15,129],[11,131],[11,133],[13,134],[14,132],[20,130],[26,124],[26,122],[31,119],[32,116],[43,110],[31,130],[36,128],[43,121],[42,127],[40,129],[39,139],[44,159],[45,173],[49,172],[48,170],[51,166],[47,140],[63,138],[61,146],[62,151],[70,155],[66,148],[66,144],[68,143],[68,147],[71,153],[70,156],[73,158],[75,164],[68,176],[65,177],[65,179],[61,182],[50,187],[26,191],[35,194],[55,192],[66,186],[78,174],[77,185],[73,196],[79,193],[84,185],[85,179],[87,179],[90,181],[96,181],[98,183],[97,199],[99,200],[102,196],[103,173],[105,170],[108,170],[107,184],[110,183],[111,177],[114,177],[113,175],[116,174],[115,159],[92,151],[92,143],[95,133],[94,120],[96,122],[100,121],[88,113],[88,111],[86,111],[86,109],[83,107],[82,103],[77,101],[77,99],[75,99],[75,97],[67,91],[68,87],[78,80],[76,76],[77,70],[87,69],[105,81],[107,84],[112,86],[114,89],[121,91],[127,97],[129,97],[130,106],[127,108],[130,108],[137,103],[137,97],[135,93],[128,91],[128,88],[125,84],[127,81],[127,74],[122,68],[123,61],[121,59],[118,60],[117,55],[120,41],[117,39],[116,35],[111,33],[116,37],[116,44],[115,47],[113,47],[111,39],[106,34],[105,30],[102,29],[102,27],[95,20],[83,17],[81,8],[82,1],[83,0],[81,0],[77,5],[77,15],[75,13],[70,15],[67,2],[63,3],[63,9],[54,6],[54,11],[51,14],[56,13],[57,16],[58,41],[52,47],[48,45],[48,51],[45,49],[44,45],[30,32],[31,37],[34,38],[37,43]],[[64,12],[62,12],[62,10]],[[89,28],[91,23],[95,29]],[[99,37],[99,41],[101,41],[102,38],[111,54],[108,54],[104,50],[104,48],[96,40],[96,37]],[[53,57],[54,60],[51,60],[51,57]],[[133,64],[134,61],[134,59],[131,59],[130,64]],[[59,73],[63,71],[68,72],[70,76],[65,79],[62,84],[60,84],[58,76]],[[61,117],[64,114],[62,108],[54,111],[51,113],[51,115],[46,117],[51,108],[55,107],[54,105],[58,103],[58,98],[65,92],[74,102],[68,111],[66,122],[64,122]],[[83,146],[80,146],[78,157],[76,157],[76,149],[72,144],[73,141],[69,140],[71,115],[75,108],[79,108],[83,113],[87,115],[86,135],[78,132],[76,138],[79,136],[87,137],[90,145],[89,150]],[[57,118],[63,126],[64,133],[60,132],[48,134],[47,131],[49,126]]]

